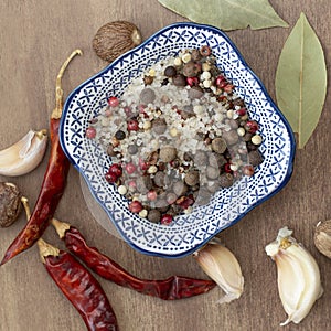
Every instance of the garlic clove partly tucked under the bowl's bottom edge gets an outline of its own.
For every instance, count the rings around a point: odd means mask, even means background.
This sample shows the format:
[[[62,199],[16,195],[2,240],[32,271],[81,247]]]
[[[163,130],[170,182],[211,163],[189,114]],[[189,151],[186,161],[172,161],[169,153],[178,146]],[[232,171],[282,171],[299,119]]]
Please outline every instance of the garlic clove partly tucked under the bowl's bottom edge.
[[[225,292],[217,303],[228,303],[242,296],[244,277],[239,263],[229,249],[213,241],[195,252],[193,257]]]

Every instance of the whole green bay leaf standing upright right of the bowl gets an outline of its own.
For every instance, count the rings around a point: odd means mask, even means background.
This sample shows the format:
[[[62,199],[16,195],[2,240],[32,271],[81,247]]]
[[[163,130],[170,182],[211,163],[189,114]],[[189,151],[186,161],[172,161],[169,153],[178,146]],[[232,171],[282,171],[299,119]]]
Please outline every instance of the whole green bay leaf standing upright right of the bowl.
[[[303,13],[279,56],[275,85],[277,104],[301,149],[319,122],[327,95],[323,49]]]

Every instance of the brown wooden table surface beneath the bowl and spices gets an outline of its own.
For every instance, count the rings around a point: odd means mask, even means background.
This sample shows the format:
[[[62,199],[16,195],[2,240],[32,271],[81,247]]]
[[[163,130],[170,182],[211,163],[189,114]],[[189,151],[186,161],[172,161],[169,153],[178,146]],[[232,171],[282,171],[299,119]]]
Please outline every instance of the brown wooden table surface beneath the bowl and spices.
[[[289,29],[247,29],[228,32],[228,35],[275,99],[278,57],[301,11],[320,38],[330,66],[331,9],[329,0],[273,0],[270,3],[289,23]],[[65,95],[106,65],[95,55],[92,39],[99,26],[114,20],[136,23],[143,38],[148,38],[164,25],[183,21],[183,18],[161,7],[157,0],[0,1],[0,149],[20,139],[30,128],[47,127],[54,107],[57,71],[74,49],[82,49],[84,56],[75,58],[65,75]],[[328,74],[330,77],[330,71]],[[98,278],[113,303],[121,331],[280,330],[279,322],[286,319],[286,314],[278,297],[276,266],[264,248],[284,225],[293,228],[295,236],[317,258],[324,295],[302,323],[282,330],[330,330],[331,261],[313,246],[316,224],[331,217],[330,108],[328,88],[319,126],[306,148],[297,151],[288,185],[218,235],[242,265],[245,277],[242,298],[227,306],[217,306],[215,301],[222,296],[217,288],[201,297],[167,302]],[[18,184],[33,205],[47,156],[49,151],[42,164],[30,174],[1,180]],[[164,259],[145,256],[105,232],[86,206],[81,178],[74,168],[71,168],[56,216],[79,227],[89,244],[98,246],[140,277],[161,278],[173,274],[206,277],[192,257]],[[22,213],[14,225],[0,229],[1,256],[24,222]],[[63,247],[52,228],[44,237]],[[0,268],[0,298],[1,331],[85,330],[77,311],[46,275],[36,247]]]

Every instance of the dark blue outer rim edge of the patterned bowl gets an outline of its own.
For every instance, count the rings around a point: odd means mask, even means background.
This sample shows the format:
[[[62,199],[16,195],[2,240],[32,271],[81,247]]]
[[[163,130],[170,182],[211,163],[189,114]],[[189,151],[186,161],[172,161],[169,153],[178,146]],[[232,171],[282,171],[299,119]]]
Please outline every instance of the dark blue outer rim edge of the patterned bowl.
[[[247,74],[249,74],[255,82],[257,83],[257,86],[259,88],[259,90],[261,92],[261,95],[265,97],[265,102],[268,103],[270,105],[270,108],[273,108],[273,110],[275,111],[275,114],[279,117],[279,120],[281,122],[281,125],[284,126],[284,130],[285,132],[288,135],[287,137],[287,143],[288,143],[288,154],[287,154],[287,163],[286,163],[286,172],[284,174],[284,177],[281,178],[281,182],[279,184],[277,184],[277,186],[275,189],[273,189],[271,192],[268,192],[267,195],[264,195],[260,199],[257,199],[254,203],[249,204],[246,206],[245,211],[242,212],[241,214],[236,215],[235,218],[233,218],[231,222],[228,222],[227,224],[225,224],[224,226],[221,226],[220,228],[217,228],[216,232],[214,233],[210,233],[209,236],[206,236],[205,238],[203,238],[202,241],[200,241],[197,244],[193,245],[193,246],[189,246],[186,248],[180,249],[180,250],[175,250],[173,249],[172,252],[167,252],[163,249],[156,249],[156,247],[149,249],[149,247],[141,247],[140,245],[138,245],[137,243],[135,243],[135,241],[132,241],[131,238],[129,238],[127,236],[127,234],[122,231],[122,228],[120,228],[118,226],[118,224],[114,221],[114,215],[108,211],[108,209],[105,206],[104,202],[99,199],[99,196],[96,194],[95,190],[92,186],[92,183],[89,182],[88,178],[86,177],[86,173],[84,172],[84,170],[79,167],[77,159],[75,157],[73,157],[72,152],[68,150],[67,148],[67,132],[66,130],[68,129],[68,121],[67,121],[67,115],[70,113],[70,109],[72,107],[72,103],[73,99],[77,96],[77,94],[79,94],[79,92],[82,92],[86,86],[88,86],[88,84],[90,84],[92,82],[94,82],[97,78],[103,77],[106,73],[108,73],[109,71],[111,71],[114,67],[116,67],[118,64],[120,64],[122,62],[124,58],[128,57],[129,55],[131,55],[135,52],[138,52],[139,50],[142,50],[143,47],[146,47],[147,44],[149,44],[151,41],[157,41],[159,36],[163,35],[164,33],[168,33],[169,31],[171,32],[172,30],[175,29],[197,29],[201,31],[204,31],[206,33],[213,33],[216,35],[220,35],[225,43],[227,43],[227,45],[229,46],[229,49],[232,49],[231,51],[234,52],[237,57],[238,61],[241,62],[241,65],[245,68],[245,72],[247,72]],[[236,85],[236,84],[235,84]],[[276,193],[278,193],[290,180],[290,177],[292,174],[292,167],[293,167],[293,158],[295,158],[295,151],[296,151],[296,142],[295,142],[295,136],[293,132],[287,121],[287,119],[285,118],[285,116],[282,115],[282,113],[278,109],[278,107],[276,106],[276,104],[274,103],[274,100],[271,99],[271,97],[269,96],[268,92],[266,90],[265,86],[263,85],[261,81],[256,76],[256,74],[250,70],[250,67],[247,65],[246,61],[243,58],[241,52],[237,50],[237,47],[235,46],[235,44],[231,41],[231,39],[220,29],[212,26],[212,25],[206,25],[206,24],[197,24],[197,23],[192,23],[192,22],[180,22],[180,23],[173,23],[170,24],[161,30],[159,30],[157,33],[154,33],[153,35],[151,35],[149,39],[147,39],[143,43],[141,43],[139,46],[137,46],[136,49],[125,53],[124,55],[121,55],[120,57],[118,57],[116,61],[114,61],[113,63],[110,63],[108,66],[106,66],[104,70],[102,70],[99,73],[97,73],[96,75],[92,76],[90,78],[88,78],[87,81],[85,81],[84,83],[82,83],[79,86],[77,86],[67,97],[65,104],[64,104],[64,108],[63,108],[63,115],[61,118],[61,124],[60,124],[60,142],[62,146],[62,149],[64,151],[64,153],[66,154],[66,157],[70,159],[70,161],[73,163],[73,166],[81,172],[81,174],[83,175],[83,178],[85,179],[92,195],[94,196],[94,199],[102,205],[102,207],[105,210],[105,212],[108,214],[109,218],[113,221],[113,223],[115,224],[117,231],[120,233],[120,235],[124,237],[124,239],[136,250],[138,250],[139,253],[146,254],[146,255],[151,255],[151,256],[158,256],[158,257],[166,257],[166,258],[180,258],[180,257],[184,257],[188,256],[192,253],[194,253],[195,250],[197,250],[199,248],[203,247],[209,241],[211,241],[216,234],[218,234],[220,232],[224,231],[225,228],[236,224],[239,220],[242,220],[249,211],[252,211],[254,207],[256,207],[257,205],[261,204],[263,202],[265,202],[266,200],[270,199],[271,196],[274,196]],[[247,182],[246,182],[247,185]]]

